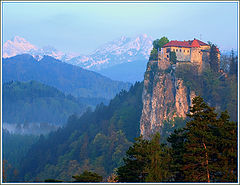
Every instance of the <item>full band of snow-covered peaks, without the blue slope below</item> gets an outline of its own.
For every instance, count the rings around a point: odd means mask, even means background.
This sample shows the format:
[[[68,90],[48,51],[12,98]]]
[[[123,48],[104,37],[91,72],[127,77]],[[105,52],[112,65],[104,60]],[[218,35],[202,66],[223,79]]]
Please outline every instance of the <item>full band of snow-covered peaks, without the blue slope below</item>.
[[[12,57],[18,54],[30,54],[35,59],[41,60],[44,55],[49,55],[63,62],[70,63],[100,71],[119,64],[131,63],[133,61],[148,60],[152,49],[152,38],[146,34],[135,38],[121,37],[108,42],[95,50],[90,55],[66,54],[51,46],[38,48],[26,39],[15,36],[3,45],[3,57]]]

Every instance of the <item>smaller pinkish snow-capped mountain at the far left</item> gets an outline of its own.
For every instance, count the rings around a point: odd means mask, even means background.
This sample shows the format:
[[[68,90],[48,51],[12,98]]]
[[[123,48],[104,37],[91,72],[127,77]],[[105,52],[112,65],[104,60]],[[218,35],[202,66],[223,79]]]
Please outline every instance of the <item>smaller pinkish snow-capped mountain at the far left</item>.
[[[13,57],[19,54],[30,54],[37,60],[41,60],[44,55],[48,55],[62,61],[70,60],[77,56],[76,54],[66,54],[51,46],[38,48],[37,46],[28,42],[26,39],[19,36],[15,36],[12,40],[8,40],[4,43],[4,58]]]

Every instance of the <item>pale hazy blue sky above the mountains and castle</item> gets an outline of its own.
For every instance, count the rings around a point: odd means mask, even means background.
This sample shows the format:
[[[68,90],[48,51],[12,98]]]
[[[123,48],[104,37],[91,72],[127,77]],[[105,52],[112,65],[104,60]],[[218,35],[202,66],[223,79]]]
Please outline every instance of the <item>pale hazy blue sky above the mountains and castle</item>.
[[[121,36],[198,38],[237,49],[236,2],[10,3],[3,6],[3,41],[15,35],[38,47],[87,54]]]

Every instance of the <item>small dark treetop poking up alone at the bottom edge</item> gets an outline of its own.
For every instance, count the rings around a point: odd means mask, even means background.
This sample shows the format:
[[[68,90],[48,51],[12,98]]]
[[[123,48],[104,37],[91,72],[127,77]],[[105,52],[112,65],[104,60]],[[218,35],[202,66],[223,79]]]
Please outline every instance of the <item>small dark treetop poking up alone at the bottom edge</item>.
[[[94,172],[84,171],[81,175],[72,176],[75,182],[101,182],[103,177]]]

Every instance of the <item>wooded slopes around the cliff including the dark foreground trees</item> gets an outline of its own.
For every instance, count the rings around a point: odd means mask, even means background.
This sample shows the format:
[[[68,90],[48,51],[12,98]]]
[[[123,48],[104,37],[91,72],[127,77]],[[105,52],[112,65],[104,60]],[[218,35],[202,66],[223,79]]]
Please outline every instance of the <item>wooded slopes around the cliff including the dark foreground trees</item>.
[[[236,182],[236,59],[232,55],[222,61],[228,64],[224,76],[211,70],[196,76],[188,67],[176,71],[200,96],[185,120],[164,124],[164,134],[139,137],[143,82],[137,82],[109,105],[71,115],[64,127],[39,136],[18,166],[6,160],[15,170],[4,167],[4,180]]]

